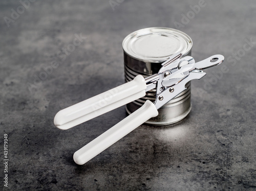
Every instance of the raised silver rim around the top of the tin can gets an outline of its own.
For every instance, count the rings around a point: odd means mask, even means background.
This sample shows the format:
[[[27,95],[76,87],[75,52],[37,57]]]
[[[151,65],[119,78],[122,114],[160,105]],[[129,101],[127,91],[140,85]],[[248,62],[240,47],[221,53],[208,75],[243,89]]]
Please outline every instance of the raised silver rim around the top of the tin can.
[[[162,56],[159,58],[155,58],[155,59],[150,58],[150,57],[142,58],[140,55],[134,54],[134,52],[130,51],[127,48],[127,45],[129,45],[129,42],[131,42],[131,40],[134,37],[136,37],[136,36],[140,37],[142,35],[144,36],[144,35],[148,35],[148,34],[154,34],[154,33],[156,33],[157,30],[159,30],[159,31],[166,30],[167,32],[170,32],[170,34],[177,35],[177,36],[183,38],[185,40],[185,42],[187,43],[187,47],[184,49],[184,52],[182,52],[183,56],[187,55],[191,51],[192,46],[193,46],[193,41],[186,33],[179,31],[177,29],[172,29],[172,28],[167,28],[167,27],[151,27],[151,28],[140,29],[140,30],[134,31],[134,32],[130,33],[129,35],[127,35],[123,39],[123,42],[122,42],[122,48],[123,48],[124,53],[136,60],[140,60],[143,62],[161,63],[161,62],[164,62],[165,60],[167,60],[170,55],[175,54],[175,53],[172,53],[172,54],[166,55],[166,56]],[[130,45],[131,45],[131,43],[130,43]],[[184,47],[185,47],[185,45],[184,45]]]

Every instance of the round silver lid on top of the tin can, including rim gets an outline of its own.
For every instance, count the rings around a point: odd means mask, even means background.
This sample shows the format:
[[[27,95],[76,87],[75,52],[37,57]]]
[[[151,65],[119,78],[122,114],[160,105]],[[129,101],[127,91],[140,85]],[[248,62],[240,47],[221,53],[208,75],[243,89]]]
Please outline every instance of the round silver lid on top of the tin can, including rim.
[[[144,62],[163,62],[181,52],[186,55],[192,48],[191,38],[176,29],[153,27],[135,31],[123,40],[123,51]]]

